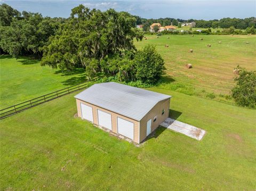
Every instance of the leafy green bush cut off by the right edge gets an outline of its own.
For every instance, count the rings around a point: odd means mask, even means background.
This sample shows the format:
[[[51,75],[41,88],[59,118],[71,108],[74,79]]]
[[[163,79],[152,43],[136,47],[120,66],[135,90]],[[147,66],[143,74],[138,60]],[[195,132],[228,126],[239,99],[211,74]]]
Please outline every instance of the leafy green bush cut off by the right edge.
[[[231,89],[231,95],[237,105],[256,107],[256,71],[239,68],[239,76],[235,78],[236,86]]]

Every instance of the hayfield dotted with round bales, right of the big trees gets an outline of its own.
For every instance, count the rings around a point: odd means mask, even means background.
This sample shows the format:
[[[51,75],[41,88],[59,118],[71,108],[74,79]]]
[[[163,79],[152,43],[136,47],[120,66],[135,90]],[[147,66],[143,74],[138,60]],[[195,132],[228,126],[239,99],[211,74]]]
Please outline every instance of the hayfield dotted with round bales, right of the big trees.
[[[172,78],[173,84],[191,86],[195,88],[195,94],[200,95],[202,91],[229,94],[235,84],[233,70],[238,64],[247,70],[256,69],[256,35],[146,37],[147,40],[136,41],[136,47],[140,49],[147,44],[156,45],[165,61],[166,74]],[[207,44],[211,44],[211,47],[207,47]],[[189,49],[193,49],[193,53]],[[193,65],[192,69],[185,68],[188,63]]]

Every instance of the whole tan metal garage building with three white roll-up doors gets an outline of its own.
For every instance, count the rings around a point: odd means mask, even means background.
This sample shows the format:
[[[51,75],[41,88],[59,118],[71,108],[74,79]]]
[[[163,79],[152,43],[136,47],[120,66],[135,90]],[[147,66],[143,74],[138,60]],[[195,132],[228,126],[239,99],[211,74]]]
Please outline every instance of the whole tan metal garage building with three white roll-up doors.
[[[107,82],[95,84],[75,98],[78,117],[141,143],[169,117],[171,96]]]

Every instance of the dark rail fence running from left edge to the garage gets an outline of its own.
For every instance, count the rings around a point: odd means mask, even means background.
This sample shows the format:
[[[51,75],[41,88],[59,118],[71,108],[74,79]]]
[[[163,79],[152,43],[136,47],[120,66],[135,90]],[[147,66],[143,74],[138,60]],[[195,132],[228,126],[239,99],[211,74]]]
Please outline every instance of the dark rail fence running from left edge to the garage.
[[[21,111],[27,110],[31,107],[34,107],[36,105],[42,104],[44,102],[51,101],[52,99],[61,97],[63,95],[67,95],[73,92],[76,92],[78,90],[84,89],[88,86],[87,82],[77,84],[74,86],[69,86],[67,88],[63,88],[60,90],[57,90],[55,92],[52,92],[50,94],[45,94],[39,97],[36,97],[34,99],[30,99],[26,102],[22,102],[10,107],[6,107],[5,109],[0,110],[0,119],[4,119],[9,117],[10,115],[13,115],[15,113],[19,113]]]

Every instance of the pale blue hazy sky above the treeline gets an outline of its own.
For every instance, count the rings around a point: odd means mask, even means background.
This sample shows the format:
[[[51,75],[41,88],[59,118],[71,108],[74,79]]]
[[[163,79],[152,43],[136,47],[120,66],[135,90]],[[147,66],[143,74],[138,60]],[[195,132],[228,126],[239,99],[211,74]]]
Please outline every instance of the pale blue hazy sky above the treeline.
[[[0,0],[18,11],[39,12],[43,16],[64,17],[70,15],[71,9],[83,4],[90,9],[106,11],[113,8],[116,11],[127,11],[142,18],[175,18],[175,19],[221,19],[221,18],[248,18],[256,16],[256,0],[173,0],[173,1],[67,1],[67,0]]]

